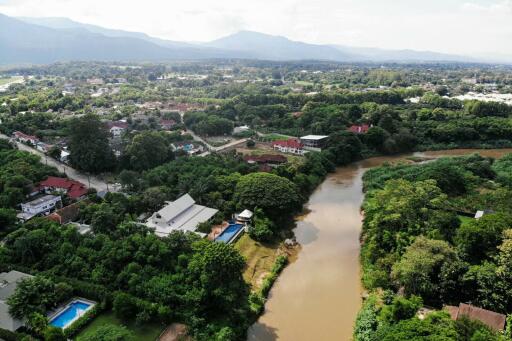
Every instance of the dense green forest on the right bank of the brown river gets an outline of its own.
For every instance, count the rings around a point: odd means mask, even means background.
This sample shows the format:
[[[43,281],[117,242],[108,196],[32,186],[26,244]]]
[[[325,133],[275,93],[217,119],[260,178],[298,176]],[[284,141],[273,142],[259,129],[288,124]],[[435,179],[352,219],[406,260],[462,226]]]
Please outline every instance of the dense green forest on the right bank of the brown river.
[[[505,340],[478,321],[423,306],[512,312],[512,155],[388,164],[364,175],[361,250],[369,298],[356,340]],[[476,200],[475,200],[476,199]],[[474,212],[486,212],[473,218]],[[510,326],[510,323],[508,324]]]

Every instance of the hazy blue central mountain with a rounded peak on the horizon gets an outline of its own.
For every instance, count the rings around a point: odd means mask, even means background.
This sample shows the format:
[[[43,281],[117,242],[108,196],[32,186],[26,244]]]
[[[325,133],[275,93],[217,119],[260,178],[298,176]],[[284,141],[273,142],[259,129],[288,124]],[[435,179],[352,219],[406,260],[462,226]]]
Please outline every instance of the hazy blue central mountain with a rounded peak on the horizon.
[[[359,56],[350,51],[340,51],[331,46],[307,44],[285,37],[251,31],[240,31],[205,45],[231,51],[244,51],[258,59],[334,61],[359,59]]]

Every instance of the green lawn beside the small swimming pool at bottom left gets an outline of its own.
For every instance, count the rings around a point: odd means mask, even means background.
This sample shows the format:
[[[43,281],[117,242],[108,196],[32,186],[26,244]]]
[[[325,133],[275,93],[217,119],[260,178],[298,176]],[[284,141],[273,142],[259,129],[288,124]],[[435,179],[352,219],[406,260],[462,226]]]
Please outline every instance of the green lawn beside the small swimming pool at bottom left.
[[[113,312],[106,312],[96,317],[91,324],[82,330],[77,337],[84,336],[95,331],[100,326],[105,324],[124,325],[131,330],[137,341],[154,341],[160,336],[160,333],[165,329],[165,326],[159,324],[145,324],[143,326],[136,326],[134,323],[123,323]]]

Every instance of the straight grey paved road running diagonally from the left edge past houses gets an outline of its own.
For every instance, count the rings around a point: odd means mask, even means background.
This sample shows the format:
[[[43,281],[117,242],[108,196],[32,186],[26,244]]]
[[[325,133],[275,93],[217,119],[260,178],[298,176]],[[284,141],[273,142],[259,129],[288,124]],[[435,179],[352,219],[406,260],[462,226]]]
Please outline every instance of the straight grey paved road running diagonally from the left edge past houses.
[[[9,136],[0,134],[0,138],[9,140]],[[74,168],[71,168],[70,166],[63,164],[59,161],[56,161],[55,159],[52,159],[51,157],[46,156],[44,153],[40,152],[37,149],[34,149],[32,147],[29,147],[23,143],[16,142],[16,145],[18,146],[19,150],[24,150],[29,153],[32,153],[34,155],[38,155],[41,157],[41,162],[46,163],[49,166],[53,166],[57,168],[60,172],[65,173],[70,179],[80,181],[84,185],[95,188],[97,191],[106,191],[107,188],[111,192],[114,192],[114,186],[112,184],[107,185],[107,183],[98,177],[95,176],[87,176],[87,174],[84,174],[82,172],[77,171]],[[89,186],[90,184],[90,186]]]

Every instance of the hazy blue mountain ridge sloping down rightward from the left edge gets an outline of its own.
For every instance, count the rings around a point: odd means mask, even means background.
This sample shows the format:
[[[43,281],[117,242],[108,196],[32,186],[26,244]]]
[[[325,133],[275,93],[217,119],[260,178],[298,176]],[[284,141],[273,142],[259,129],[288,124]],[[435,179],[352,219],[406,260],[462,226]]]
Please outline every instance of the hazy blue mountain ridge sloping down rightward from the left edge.
[[[0,14],[0,63],[69,60],[163,61],[225,57],[201,47],[163,47],[134,37],[112,37],[78,28],[49,28]]]

